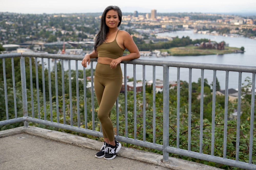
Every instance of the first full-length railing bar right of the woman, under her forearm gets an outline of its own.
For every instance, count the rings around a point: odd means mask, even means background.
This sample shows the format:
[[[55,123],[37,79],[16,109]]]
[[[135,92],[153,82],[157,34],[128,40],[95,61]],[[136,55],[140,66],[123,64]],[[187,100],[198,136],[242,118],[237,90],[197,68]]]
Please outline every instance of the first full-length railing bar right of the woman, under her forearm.
[[[124,126],[125,137],[128,137],[128,117],[127,117],[127,64],[124,64]],[[117,132],[117,129],[116,129]],[[119,128],[118,128],[119,132]]]

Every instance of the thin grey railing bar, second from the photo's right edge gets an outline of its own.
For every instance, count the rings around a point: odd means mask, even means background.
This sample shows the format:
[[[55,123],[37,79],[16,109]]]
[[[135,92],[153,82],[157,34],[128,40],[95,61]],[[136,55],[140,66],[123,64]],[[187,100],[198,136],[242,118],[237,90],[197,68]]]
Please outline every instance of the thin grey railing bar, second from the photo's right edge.
[[[238,75],[236,161],[239,161],[240,116],[241,116],[242,72]]]

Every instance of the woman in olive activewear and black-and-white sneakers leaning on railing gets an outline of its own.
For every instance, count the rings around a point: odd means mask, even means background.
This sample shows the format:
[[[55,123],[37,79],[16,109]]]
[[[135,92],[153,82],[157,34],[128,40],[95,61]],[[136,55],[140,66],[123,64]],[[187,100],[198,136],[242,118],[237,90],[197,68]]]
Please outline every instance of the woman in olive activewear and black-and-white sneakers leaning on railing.
[[[122,11],[118,6],[108,6],[101,17],[101,25],[95,37],[94,51],[85,55],[82,66],[87,67],[91,58],[98,62],[94,74],[94,90],[99,104],[98,118],[101,123],[104,144],[95,157],[114,159],[121,144],[115,141],[110,111],[120,93],[123,74],[120,63],[140,57],[139,50],[131,35],[119,30],[122,21]],[[124,50],[130,54],[123,56]]]

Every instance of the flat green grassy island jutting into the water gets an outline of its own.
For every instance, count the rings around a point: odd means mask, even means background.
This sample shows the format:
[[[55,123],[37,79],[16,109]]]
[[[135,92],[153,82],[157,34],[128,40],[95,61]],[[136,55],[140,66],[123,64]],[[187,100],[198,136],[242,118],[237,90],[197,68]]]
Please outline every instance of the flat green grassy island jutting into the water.
[[[225,47],[224,50],[217,49],[202,49],[198,46],[188,45],[185,47],[173,47],[170,49],[161,50],[161,52],[167,51],[171,56],[200,56],[200,55],[222,55],[230,53],[243,53],[240,48]]]

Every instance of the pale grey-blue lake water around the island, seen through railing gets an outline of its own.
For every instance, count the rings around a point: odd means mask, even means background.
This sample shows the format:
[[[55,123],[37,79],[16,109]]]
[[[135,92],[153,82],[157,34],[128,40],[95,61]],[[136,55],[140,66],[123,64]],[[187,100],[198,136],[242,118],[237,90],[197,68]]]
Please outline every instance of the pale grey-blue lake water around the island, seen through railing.
[[[189,36],[190,39],[201,39],[207,38],[211,41],[216,41],[217,43],[221,41],[225,41],[229,44],[230,47],[244,47],[245,52],[242,53],[234,53],[234,54],[224,54],[224,55],[204,55],[204,56],[166,56],[166,57],[143,57],[140,59],[147,60],[166,60],[166,61],[181,61],[181,62],[196,62],[196,63],[212,63],[212,64],[229,64],[229,65],[240,65],[240,66],[255,66],[256,64],[256,41],[245,38],[245,37],[226,37],[226,36],[216,36],[216,35],[203,35],[194,33],[193,30],[186,31],[175,31],[175,32],[165,32],[158,33],[158,36],[170,36],[181,38],[182,36]],[[64,62],[65,70],[68,69],[68,62]],[[94,64],[94,68],[96,63]],[[121,64],[122,70],[124,69],[123,64]],[[71,68],[75,68],[75,61],[71,61]],[[81,61],[78,62],[78,69],[82,70]],[[152,66],[146,66],[146,80],[152,80]],[[123,72],[124,73],[124,72]],[[180,80],[188,82],[188,74],[189,69],[181,68],[180,69]],[[133,65],[127,64],[127,76],[133,77]],[[242,83],[244,79],[249,76],[252,77],[251,73],[243,73],[242,74]],[[201,77],[200,69],[192,69],[192,82],[197,82],[198,78]],[[213,81],[213,71],[205,70],[204,78],[207,79],[208,84],[211,84]],[[220,83],[221,89],[225,89],[225,71],[217,71],[217,79]],[[142,80],[142,65],[136,66],[136,79]],[[163,68],[156,66],[156,79],[163,80]],[[177,81],[177,68],[170,68],[169,73],[170,81]],[[229,72],[229,88],[238,88],[238,73]]]

